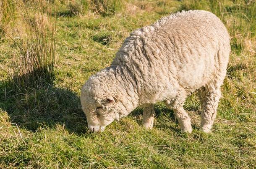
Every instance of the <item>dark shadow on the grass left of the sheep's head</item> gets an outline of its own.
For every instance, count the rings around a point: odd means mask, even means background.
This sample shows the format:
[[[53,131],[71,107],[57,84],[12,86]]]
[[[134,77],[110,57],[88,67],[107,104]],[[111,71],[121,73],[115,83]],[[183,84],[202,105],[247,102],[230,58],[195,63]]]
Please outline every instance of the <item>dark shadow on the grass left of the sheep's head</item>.
[[[71,133],[88,131],[77,93],[49,83],[37,87],[13,87],[15,80],[0,84],[0,108],[8,113],[11,123],[33,132],[40,127],[54,128],[56,124],[65,126]]]

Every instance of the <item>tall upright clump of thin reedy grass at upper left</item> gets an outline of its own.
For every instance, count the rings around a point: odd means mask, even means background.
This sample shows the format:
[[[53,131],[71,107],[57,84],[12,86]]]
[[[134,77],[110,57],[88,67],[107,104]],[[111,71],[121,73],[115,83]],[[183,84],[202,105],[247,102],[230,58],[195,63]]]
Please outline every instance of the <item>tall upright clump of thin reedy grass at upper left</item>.
[[[18,88],[37,88],[55,78],[55,15],[43,13],[41,0],[19,0],[20,20],[9,34],[15,52],[11,84]],[[51,8],[51,6],[48,6]],[[53,10],[48,10],[53,11]]]

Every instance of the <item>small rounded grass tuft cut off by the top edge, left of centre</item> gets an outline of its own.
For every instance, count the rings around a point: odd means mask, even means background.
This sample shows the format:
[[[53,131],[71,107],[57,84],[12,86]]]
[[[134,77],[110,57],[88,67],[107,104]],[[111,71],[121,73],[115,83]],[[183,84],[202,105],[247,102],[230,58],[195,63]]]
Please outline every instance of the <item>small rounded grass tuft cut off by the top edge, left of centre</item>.
[[[91,0],[91,9],[102,16],[114,15],[121,7],[121,0]]]

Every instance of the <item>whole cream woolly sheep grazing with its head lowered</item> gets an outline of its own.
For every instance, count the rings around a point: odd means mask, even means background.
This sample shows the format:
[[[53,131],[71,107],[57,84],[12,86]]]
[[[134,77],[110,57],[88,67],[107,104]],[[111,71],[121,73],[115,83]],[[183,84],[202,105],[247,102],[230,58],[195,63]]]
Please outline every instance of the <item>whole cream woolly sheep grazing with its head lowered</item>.
[[[220,87],[230,54],[227,29],[203,10],[175,13],[135,30],[125,39],[110,67],[92,75],[81,89],[81,105],[90,131],[103,131],[137,106],[151,129],[154,106],[172,108],[181,131],[191,132],[183,108],[199,89],[201,130],[209,132],[216,117]]]

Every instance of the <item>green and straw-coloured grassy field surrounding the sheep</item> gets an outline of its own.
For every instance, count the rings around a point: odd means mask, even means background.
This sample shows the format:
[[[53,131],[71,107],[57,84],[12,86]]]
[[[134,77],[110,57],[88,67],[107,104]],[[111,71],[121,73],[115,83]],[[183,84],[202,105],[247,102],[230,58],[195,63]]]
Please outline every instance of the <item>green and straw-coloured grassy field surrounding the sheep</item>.
[[[0,25],[0,168],[256,168],[254,0],[56,0],[55,9],[53,83],[12,85],[18,49],[1,32],[12,24],[5,19]],[[90,133],[79,98],[84,82],[110,65],[133,30],[190,9],[212,11],[231,36],[232,53],[212,133],[199,131],[195,93],[184,106],[191,116],[191,134],[180,132],[173,111],[162,103],[155,105],[152,130],[142,128],[142,109],[137,108],[104,132]]]

